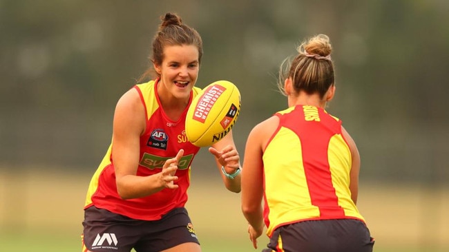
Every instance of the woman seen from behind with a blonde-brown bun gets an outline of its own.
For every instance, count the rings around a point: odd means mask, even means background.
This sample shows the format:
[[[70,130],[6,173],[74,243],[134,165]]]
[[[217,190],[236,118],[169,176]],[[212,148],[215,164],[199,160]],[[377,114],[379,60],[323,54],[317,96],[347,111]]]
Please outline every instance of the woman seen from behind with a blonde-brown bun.
[[[325,111],[335,94],[331,51],[323,34],[300,45],[287,74],[281,65],[288,108],[247,139],[242,212],[255,248],[266,225],[264,251],[372,251],[356,207],[359,151],[341,120]]]

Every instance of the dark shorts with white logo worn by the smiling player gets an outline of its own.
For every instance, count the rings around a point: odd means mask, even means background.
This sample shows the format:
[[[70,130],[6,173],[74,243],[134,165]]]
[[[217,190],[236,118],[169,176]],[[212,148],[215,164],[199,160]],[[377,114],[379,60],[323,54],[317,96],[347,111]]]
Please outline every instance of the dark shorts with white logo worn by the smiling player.
[[[200,244],[185,208],[149,221],[89,207],[84,211],[83,227],[83,251],[156,252],[185,242]]]

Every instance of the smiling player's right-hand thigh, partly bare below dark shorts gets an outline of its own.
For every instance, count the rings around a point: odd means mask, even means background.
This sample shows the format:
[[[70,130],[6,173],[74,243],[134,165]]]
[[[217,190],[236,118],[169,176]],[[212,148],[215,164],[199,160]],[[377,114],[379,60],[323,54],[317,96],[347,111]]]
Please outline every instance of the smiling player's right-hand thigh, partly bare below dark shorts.
[[[201,251],[187,210],[173,209],[161,220],[147,222],[147,232],[135,244],[137,252]]]

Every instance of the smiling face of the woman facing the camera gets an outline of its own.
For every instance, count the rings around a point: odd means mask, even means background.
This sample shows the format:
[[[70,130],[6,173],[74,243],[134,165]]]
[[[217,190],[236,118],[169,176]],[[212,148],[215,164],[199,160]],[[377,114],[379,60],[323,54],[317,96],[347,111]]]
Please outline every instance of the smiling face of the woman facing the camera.
[[[198,57],[195,45],[167,45],[164,48],[162,64],[154,65],[160,75],[157,93],[162,100],[189,100],[200,70]]]

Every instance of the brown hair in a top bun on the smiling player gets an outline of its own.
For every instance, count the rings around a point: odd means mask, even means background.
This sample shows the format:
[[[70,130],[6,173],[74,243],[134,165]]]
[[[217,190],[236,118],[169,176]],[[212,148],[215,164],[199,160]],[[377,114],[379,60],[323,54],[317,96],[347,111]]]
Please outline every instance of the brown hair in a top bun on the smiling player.
[[[164,60],[164,47],[166,45],[195,45],[198,48],[198,63],[201,63],[202,39],[200,34],[189,25],[182,23],[178,14],[167,12],[160,19],[162,23],[160,23],[159,29],[153,37],[153,53],[150,56],[150,61],[156,65],[161,65]],[[154,71],[153,65],[151,65],[138,81],[143,81],[154,75],[159,77],[159,74]]]

